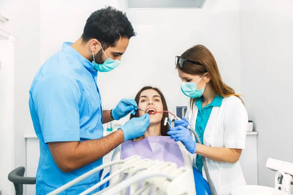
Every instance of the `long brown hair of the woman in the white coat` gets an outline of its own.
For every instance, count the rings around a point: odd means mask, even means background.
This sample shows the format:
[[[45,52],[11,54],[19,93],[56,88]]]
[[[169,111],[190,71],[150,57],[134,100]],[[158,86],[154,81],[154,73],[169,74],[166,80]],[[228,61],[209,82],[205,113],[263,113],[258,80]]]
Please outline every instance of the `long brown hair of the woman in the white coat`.
[[[181,55],[181,58],[191,61],[198,61],[201,65],[185,62],[183,68],[180,68],[179,64],[176,64],[177,69],[187,74],[199,75],[201,77],[207,73],[210,76],[210,86],[216,95],[222,97],[236,96],[244,104],[243,100],[240,98],[240,95],[235,94],[234,89],[223,82],[217,62],[207,47],[203,45],[195,45],[186,50],[186,52]],[[193,108],[192,105],[194,102],[195,99],[190,98],[191,109]]]

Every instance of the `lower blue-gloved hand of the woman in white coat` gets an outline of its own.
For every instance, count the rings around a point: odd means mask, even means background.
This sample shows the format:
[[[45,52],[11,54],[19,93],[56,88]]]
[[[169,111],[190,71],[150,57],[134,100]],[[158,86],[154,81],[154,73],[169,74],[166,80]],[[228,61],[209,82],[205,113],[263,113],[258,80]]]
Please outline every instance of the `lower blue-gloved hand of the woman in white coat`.
[[[193,141],[190,131],[183,127],[177,126],[170,128],[170,131],[167,132],[168,135],[171,135],[170,138],[175,139],[175,141],[182,141],[185,148],[191,154],[194,154],[196,151],[196,142]]]

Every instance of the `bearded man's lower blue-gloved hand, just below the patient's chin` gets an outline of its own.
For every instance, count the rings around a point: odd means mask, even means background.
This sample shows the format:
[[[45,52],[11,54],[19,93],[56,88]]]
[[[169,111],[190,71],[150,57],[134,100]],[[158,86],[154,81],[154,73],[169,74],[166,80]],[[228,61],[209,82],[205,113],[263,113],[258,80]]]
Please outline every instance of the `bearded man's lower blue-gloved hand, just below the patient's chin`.
[[[126,141],[143,136],[148,126],[149,115],[145,114],[142,117],[131,118],[119,129],[122,129]]]

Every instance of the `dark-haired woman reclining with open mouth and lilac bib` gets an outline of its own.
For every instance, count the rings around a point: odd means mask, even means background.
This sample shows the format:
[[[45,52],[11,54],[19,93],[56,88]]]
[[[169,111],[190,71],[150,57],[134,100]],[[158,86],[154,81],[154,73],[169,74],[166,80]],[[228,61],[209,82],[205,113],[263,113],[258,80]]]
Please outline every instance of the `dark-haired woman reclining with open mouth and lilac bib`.
[[[139,108],[145,110],[146,113],[149,114],[150,125],[142,137],[128,140],[118,146],[114,150],[112,161],[139,155],[143,158],[150,158],[153,160],[170,161],[176,163],[177,167],[185,166],[191,169],[192,174],[191,158],[184,145],[181,142],[175,142],[167,135],[169,127],[168,125],[164,126],[164,121],[165,118],[168,117],[168,114],[152,114],[154,111],[167,110],[167,103],[162,92],[158,88],[143,87],[137,93],[135,101]],[[144,114],[144,111],[138,110],[136,115],[130,118],[141,117]],[[118,166],[112,166],[110,174],[115,173],[117,170]],[[191,177],[193,178],[193,175]],[[117,181],[118,178],[119,176],[111,179],[110,184]],[[195,187],[193,189],[195,189]]]

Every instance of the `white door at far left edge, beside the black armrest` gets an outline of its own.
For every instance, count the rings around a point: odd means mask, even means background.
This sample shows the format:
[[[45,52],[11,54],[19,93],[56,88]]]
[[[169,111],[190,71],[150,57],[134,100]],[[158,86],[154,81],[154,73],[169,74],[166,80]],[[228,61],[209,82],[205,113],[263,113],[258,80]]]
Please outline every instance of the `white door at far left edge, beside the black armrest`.
[[[7,176],[14,167],[14,88],[13,42],[0,37],[0,190],[14,193]]]

